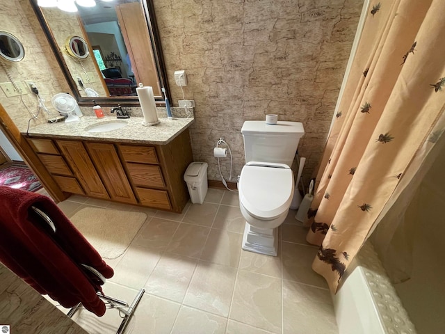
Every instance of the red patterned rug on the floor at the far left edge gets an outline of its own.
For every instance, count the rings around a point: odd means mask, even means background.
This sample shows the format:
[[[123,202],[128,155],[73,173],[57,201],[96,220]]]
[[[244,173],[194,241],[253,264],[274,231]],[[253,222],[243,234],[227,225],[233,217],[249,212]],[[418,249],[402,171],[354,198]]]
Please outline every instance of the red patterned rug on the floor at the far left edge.
[[[42,188],[33,171],[25,165],[13,165],[0,170],[0,186],[36,191]]]

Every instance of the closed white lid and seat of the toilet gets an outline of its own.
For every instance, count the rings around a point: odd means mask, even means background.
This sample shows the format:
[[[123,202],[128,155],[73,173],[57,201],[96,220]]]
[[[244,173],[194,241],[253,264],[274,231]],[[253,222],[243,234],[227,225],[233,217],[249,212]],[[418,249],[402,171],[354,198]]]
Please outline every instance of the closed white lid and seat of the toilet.
[[[239,200],[252,216],[273,219],[289,209],[293,173],[284,164],[250,162],[241,170]]]

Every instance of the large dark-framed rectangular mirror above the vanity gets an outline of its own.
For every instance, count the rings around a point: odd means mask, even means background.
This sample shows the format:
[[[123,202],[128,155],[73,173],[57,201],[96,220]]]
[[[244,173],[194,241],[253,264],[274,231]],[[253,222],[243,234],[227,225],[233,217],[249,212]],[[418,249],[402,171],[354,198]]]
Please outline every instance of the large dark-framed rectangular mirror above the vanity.
[[[139,82],[156,104],[163,87],[171,100],[152,0],[96,0],[76,13],[29,1],[79,105],[138,106]]]

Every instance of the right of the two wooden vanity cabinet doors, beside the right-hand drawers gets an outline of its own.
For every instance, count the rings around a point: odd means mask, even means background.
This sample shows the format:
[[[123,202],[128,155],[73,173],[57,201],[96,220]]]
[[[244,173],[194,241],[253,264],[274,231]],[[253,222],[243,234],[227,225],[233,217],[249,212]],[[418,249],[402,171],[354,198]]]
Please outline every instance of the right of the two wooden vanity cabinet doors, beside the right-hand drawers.
[[[120,163],[113,144],[86,143],[90,157],[97,167],[112,200],[136,204],[136,198]]]

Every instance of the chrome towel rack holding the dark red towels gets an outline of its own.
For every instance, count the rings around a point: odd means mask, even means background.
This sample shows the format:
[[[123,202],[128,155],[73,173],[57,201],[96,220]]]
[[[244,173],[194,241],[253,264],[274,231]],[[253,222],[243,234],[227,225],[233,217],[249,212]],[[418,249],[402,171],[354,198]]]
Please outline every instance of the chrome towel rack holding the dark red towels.
[[[56,224],[54,224],[54,221],[52,221],[51,218],[49,218],[49,216],[47,214],[45,214],[44,212],[42,212],[41,209],[39,209],[38,207],[35,207],[35,206],[31,206],[31,209],[33,209],[33,211],[36,214],[38,214],[38,216],[40,216],[40,218],[42,218],[43,221],[45,223],[47,223],[47,225],[49,225],[51,230],[54,233],[56,233]],[[102,282],[101,285],[104,285],[104,283],[106,282],[106,278],[102,275],[102,273],[99,273],[99,271],[97,271],[95,268],[88,266],[86,264],[81,263],[80,265],[84,269],[86,269],[87,271],[92,273],[100,282]],[[120,326],[119,326],[116,334],[124,333],[125,329],[127,328],[128,324],[129,324],[131,316],[136,311],[136,307],[138,306],[138,303],[140,302],[140,299],[142,299],[142,296],[144,293],[145,293],[145,289],[144,288],[140,289],[138,294],[136,295],[136,297],[133,299],[133,302],[131,303],[131,305],[129,305],[125,301],[120,301],[119,299],[115,299],[113,297],[106,296],[105,294],[102,294],[101,292],[96,292],[99,299],[102,299],[102,301],[104,301],[107,308],[115,308],[115,309],[118,309],[120,312],[124,313],[124,317],[122,318],[122,321],[120,323]],[[70,311],[67,313],[67,316],[71,318],[74,315],[74,313],[76,313],[77,310],[81,309],[81,305],[82,305],[82,303],[78,303],[76,306],[72,307],[70,309]]]

